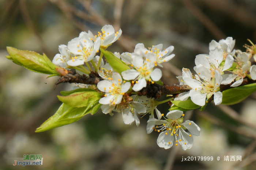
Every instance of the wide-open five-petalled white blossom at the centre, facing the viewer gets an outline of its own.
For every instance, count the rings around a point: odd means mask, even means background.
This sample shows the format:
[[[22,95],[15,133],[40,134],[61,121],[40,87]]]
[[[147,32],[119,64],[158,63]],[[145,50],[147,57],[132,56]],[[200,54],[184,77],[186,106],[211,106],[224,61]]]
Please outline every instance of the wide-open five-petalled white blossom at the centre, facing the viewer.
[[[143,87],[146,87],[147,81],[154,83],[154,81],[158,81],[162,77],[160,69],[153,69],[155,63],[156,58],[152,53],[148,53],[145,59],[138,56],[132,60],[132,67],[135,69],[126,70],[121,74],[124,80],[134,80],[133,83],[136,82],[132,89],[138,92]]]

